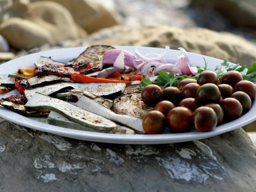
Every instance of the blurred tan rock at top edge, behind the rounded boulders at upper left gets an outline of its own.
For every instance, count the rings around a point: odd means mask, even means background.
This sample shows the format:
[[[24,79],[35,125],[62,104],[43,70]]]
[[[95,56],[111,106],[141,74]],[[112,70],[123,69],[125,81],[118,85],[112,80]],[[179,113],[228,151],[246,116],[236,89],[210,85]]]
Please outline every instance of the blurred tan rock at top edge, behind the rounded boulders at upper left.
[[[38,1],[38,0],[34,0]],[[52,0],[67,8],[75,22],[91,33],[120,23],[120,16],[108,10],[101,1],[94,0]]]

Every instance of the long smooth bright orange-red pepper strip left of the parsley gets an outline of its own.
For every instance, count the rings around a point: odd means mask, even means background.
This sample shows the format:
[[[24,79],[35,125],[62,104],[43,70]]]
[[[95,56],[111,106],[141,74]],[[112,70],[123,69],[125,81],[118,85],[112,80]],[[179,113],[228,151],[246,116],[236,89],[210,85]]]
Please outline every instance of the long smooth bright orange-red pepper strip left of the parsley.
[[[81,82],[81,83],[126,83],[128,84],[128,81],[124,80],[109,80],[109,79],[102,79],[102,78],[95,78],[95,77],[90,77],[81,73],[73,73],[71,75],[72,80],[76,82]]]

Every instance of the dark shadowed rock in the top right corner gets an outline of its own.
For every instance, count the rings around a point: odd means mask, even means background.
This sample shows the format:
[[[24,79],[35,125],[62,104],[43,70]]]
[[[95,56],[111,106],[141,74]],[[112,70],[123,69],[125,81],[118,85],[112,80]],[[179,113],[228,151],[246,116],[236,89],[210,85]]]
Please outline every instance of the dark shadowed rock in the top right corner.
[[[202,8],[214,8],[239,26],[256,27],[255,0],[192,0],[191,4]]]

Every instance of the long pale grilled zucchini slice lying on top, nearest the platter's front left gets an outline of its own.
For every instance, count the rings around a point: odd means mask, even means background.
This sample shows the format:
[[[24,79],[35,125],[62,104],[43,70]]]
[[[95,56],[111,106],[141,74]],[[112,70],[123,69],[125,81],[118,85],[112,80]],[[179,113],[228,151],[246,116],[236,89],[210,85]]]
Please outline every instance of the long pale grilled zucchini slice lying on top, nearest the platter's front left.
[[[43,109],[55,111],[72,122],[99,132],[113,132],[117,129],[117,125],[111,120],[81,109],[71,103],[39,93],[35,93],[33,97],[29,99],[25,105],[25,108],[33,110]]]

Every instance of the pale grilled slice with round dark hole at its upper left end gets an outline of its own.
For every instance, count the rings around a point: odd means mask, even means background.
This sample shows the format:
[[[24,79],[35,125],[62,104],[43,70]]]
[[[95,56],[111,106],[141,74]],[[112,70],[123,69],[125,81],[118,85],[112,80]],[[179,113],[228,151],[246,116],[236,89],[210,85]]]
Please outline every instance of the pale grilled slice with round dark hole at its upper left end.
[[[125,126],[129,126],[133,130],[136,130],[138,133],[145,133],[142,126],[142,119],[140,118],[130,117],[127,115],[118,115],[110,109],[106,108],[104,105],[97,103],[93,99],[90,99],[79,93],[70,94],[68,96],[68,101],[84,110],[93,112],[97,115],[121,123]]]

